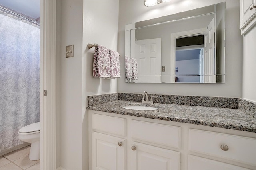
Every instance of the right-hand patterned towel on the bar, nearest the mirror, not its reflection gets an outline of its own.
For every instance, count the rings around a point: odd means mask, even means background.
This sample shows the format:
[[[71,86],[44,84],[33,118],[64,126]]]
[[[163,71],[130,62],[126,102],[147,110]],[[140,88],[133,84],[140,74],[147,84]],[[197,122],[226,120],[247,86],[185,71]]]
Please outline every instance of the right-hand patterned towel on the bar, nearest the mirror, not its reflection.
[[[110,77],[111,78],[121,77],[119,53],[112,50],[110,50]]]

